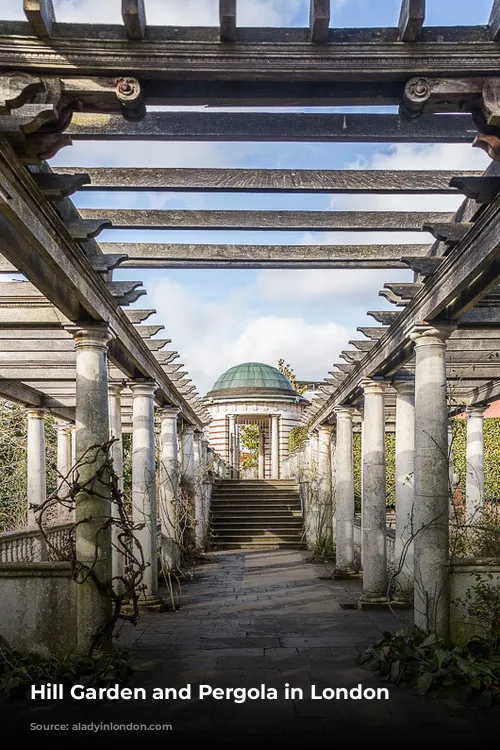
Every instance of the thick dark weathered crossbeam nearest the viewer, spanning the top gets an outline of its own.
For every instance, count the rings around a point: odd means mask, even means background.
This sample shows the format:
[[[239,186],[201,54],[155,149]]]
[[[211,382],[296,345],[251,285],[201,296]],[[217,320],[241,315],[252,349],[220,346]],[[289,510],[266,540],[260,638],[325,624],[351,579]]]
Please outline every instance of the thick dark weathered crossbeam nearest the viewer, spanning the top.
[[[123,27],[57,24],[41,47],[26,36],[19,22],[4,22],[0,66],[74,75],[75,68],[93,76],[135,76],[144,83],[175,79],[360,81],[369,78],[367,96],[377,103],[380,81],[401,86],[414,76],[496,75],[498,59],[488,29],[423,29],[419,44],[398,41],[398,29],[330,30],[329,44],[305,46],[309,29],[238,29],[229,51],[220,44],[220,29],[148,27],[148,39],[130,45]],[[12,44],[12,37],[24,37]],[[166,43],[167,42],[167,43]],[[266,42],[263,54],[262,42]],[[436,43],[439,42],[439,43]],[[401,93],[401,90],[399,91]],[[369,103],[369,102],[367,102]]]

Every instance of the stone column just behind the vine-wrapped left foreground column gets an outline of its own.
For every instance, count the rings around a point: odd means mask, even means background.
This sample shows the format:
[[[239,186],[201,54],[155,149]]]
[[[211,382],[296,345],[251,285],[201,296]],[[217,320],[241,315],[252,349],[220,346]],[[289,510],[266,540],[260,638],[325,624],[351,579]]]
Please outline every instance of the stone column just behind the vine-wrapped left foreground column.
[[[154,394],[157,385],[154,381],[132,381],[132,517],[134,523],[143,524],[135,532],[142,549],[144,571],[142,583],[145,586],[140,606],[146,609],[161,609],[158,598],[158,550],[156,519],[156,472],[155,472],[155,430]],[[140,552],[138,553],[140,555]]]

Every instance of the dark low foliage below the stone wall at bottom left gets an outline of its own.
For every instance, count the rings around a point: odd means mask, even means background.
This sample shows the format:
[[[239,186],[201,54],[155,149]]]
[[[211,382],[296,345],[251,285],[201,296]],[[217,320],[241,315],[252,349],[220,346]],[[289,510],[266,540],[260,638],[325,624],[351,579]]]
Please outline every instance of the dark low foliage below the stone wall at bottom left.
[[[62,683],[85,687],[108,687],[123,682],[132,673],[124,654],[95,652],[93,656],[66,654],[60,658],[11,651],[0,644],[0,700],[14,698],[31,685]]]

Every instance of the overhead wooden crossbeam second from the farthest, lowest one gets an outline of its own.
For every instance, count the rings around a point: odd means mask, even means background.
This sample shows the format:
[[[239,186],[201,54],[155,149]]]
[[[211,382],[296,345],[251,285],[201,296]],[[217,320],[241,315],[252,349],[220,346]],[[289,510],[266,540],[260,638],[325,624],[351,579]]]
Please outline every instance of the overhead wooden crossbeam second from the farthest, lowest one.
[[[82,208],[84,222],[72,228],[99,232],[114,229],[241,229],[299,231],[421,231],[424,225],[444,224],[454,217],[439,211],[170,211],[164,209]]]

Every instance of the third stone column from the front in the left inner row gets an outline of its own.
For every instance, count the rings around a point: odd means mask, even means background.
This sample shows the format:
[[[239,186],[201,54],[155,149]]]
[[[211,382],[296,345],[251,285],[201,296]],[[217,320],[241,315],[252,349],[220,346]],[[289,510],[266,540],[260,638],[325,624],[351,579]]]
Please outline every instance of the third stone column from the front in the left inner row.
[[[161,551],[167,570],[175,570],[180,565],[178,416],[179,409],[174,407],[160,412]]]

